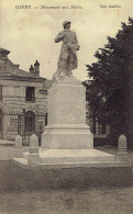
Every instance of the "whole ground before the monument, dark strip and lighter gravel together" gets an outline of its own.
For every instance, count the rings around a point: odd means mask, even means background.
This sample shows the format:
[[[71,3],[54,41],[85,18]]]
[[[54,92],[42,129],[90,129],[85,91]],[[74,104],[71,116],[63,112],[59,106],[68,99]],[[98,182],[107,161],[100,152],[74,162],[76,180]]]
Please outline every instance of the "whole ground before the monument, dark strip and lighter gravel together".
[[[99,149],[117,153],[109,147]],[[133,151],[129,159],[133,162]],[[77,182],[77,188],[68,185],[69,181]],[[56,188],[52,189],[51,183]],[[0,214],[133,214],[133,170],[64,169],[36,173],[0,161]]]

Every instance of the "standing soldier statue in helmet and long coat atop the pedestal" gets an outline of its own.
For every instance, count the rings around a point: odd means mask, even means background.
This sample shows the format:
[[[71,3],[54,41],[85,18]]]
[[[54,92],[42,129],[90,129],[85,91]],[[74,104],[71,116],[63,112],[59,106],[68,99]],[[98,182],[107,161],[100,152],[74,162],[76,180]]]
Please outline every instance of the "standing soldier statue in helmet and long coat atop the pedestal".
[[[64,79],[67,77],[73,77],[71,70],[76,69],[78,66],[77,50],[79,50],[79,44],[76,33],[70,31],[70,22],[65,21],[63,23],[64,31],[59,32],[55,37],[55,43],[63,42],[57,71],[53,76],[53,80]]]

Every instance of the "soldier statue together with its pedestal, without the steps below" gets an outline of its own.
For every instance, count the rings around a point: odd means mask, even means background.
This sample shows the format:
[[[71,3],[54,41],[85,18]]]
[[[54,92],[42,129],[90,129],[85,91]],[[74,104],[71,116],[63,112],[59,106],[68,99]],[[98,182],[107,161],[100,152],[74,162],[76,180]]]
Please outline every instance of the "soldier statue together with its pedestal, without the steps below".
[[[49,149],[90,149],[93,148],[93,135],[86,124],[86,88],[71,72],[77,68],[79,44],[76,33],[69,30],[70,22],[65,21],[63,26],[64,31],[55,37],[55,43],[62,41],[63,45],[57,71],[48,90],[48,120],[42,146]]]

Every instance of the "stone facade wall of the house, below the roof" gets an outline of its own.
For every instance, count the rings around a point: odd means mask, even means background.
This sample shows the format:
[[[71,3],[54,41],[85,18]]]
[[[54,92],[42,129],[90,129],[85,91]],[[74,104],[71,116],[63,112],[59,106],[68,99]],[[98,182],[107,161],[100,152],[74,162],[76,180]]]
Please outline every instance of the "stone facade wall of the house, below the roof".
[[[32,80],[32,79],[31,79]],[[18,116],[25,111],[33,111],[36,115],[36,132],[40,132],[40,124],[45,125],[45,115],[47,112],[47,87],[44,81],[27,81],[1,79],[2,100],[0,109],[3,111],[3,138],[14,139],[18,134]],[[35,102],[25,101],[26,87],[35,87]]]

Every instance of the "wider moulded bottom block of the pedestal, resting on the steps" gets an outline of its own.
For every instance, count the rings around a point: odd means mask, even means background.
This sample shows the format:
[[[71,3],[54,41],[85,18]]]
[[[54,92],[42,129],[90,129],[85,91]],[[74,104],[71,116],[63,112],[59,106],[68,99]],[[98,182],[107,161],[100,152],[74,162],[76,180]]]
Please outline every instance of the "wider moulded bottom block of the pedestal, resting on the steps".
[[[86,124],[47,125],[42,135],[42,147],[51,149],[93,148],[93,135]]]

